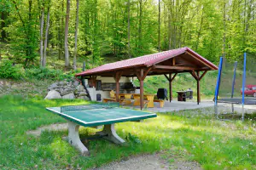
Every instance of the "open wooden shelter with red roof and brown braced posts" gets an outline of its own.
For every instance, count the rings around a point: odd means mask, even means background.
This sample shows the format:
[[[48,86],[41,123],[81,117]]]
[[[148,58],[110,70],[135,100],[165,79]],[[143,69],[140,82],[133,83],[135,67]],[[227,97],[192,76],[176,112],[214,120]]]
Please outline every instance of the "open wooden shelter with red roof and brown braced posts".
[[[169,82],[170,102],[172,101],[172,81],[178,73],[189,72],[197,82],[197,104],[201,102],[200,81],[207,71],[218,70],[200,54],[190,48],[177,48],[157,54],[148,54],[133,59],[101,65],[76,74],[76,77],[91,79],[96,87],[96,77],[113,77],[116,82],[116,96],[119,96],[121,77],[137,77],[140,81],[140,105],[143,109],[143,81],[147,76],[164,75]],[[116,98],[119,101],[119,98]]]

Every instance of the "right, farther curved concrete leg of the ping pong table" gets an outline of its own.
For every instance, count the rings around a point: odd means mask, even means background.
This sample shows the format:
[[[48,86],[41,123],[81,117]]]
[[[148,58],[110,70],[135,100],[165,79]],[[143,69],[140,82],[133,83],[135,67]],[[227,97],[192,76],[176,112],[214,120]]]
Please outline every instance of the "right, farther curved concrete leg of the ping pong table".
[[[104,139],[108,139],[114,144],[123,144],[125,143],[124,139],[121,139],[114,129],[114,124],[104,125],[104,128],[101,132],[98,132],[100,135],[104,135]],[[105,136],[106,135],[106,136]]]

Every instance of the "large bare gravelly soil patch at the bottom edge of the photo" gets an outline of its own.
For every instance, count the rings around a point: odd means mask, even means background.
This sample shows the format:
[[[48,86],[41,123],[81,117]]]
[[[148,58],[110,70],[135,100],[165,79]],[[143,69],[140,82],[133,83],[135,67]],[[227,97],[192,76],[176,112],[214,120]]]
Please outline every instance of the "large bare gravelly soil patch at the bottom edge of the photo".
[[[174,159],[175,160],[175,159]],[[201,170],[195,161],[177,160],[172,163],[160,158],[160,154],[131,157],[125,161],[112,162],[106,166],[90,170]]]

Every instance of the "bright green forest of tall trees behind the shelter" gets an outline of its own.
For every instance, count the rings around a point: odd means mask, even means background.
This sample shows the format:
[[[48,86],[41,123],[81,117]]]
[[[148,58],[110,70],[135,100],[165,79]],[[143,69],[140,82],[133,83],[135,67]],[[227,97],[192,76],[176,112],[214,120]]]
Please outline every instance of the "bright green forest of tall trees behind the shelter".
[[[255,0],[0,0],[0,60],[74,69],[187,46],[256,59]],[[1,61],[0,61],[1,62]]]

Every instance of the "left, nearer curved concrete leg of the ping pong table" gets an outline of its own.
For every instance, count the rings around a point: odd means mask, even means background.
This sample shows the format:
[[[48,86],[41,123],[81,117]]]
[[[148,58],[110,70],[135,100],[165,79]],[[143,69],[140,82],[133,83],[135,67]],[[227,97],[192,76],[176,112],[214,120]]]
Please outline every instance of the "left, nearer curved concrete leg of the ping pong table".
[[[67,142],[78,149],[82,155],[89,155],[89,150],[84,146],[79,137],[79,124],[71,121],[68,122]]]

